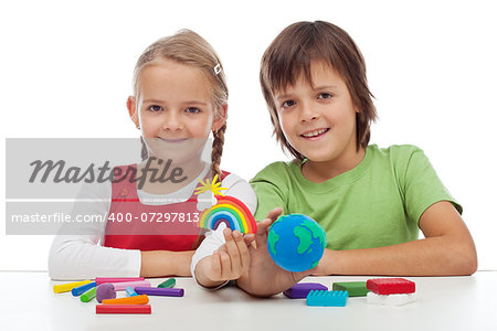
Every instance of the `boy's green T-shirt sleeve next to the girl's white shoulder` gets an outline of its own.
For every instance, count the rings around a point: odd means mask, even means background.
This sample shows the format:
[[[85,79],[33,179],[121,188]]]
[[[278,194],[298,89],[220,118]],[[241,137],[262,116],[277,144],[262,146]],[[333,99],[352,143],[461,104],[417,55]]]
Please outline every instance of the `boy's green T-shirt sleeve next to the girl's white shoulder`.
[[[283,214],[288,213],[285,191],[288,191],[288,182],[284,178],[288,177],[288,169],[284,162],[276,162],[261,170],[252,180],[252,189],[257,196],[257,211],[255,220],[262,221],[267,213],[275,207],[282,207]]]

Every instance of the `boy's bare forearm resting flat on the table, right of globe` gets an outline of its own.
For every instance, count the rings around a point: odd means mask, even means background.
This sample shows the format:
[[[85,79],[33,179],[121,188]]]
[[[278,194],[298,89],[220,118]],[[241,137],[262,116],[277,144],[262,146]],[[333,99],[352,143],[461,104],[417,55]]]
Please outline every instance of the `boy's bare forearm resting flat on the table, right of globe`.
[[[444,237],[431,237],[378,248],[326,249],[318,273],[324,275],[463,276],[472,275],[476,268],[476,249],[473,245]]]

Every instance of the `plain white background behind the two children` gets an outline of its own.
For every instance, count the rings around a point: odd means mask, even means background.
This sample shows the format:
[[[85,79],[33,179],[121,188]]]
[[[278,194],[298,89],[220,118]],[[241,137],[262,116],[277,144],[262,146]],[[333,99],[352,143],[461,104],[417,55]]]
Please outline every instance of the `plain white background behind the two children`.
[[[366,57],[380,116],[371,142],[425,150],[464,206],[479,269],[497,269],[491,2],[2,2],[0,132],[2,138],[138,137],[125,107],[135,62],[155,40],[188,28],[223,61],[230,116],[222,168],[248,180],[267,163],[287,160],[271,137],[260,58],[286,25],[327,20],[348,31]],[[3,174],[4,143],[0,149]],[[0,215],[0,269],[46,269],[52,237],[6,236],[4,203]]]

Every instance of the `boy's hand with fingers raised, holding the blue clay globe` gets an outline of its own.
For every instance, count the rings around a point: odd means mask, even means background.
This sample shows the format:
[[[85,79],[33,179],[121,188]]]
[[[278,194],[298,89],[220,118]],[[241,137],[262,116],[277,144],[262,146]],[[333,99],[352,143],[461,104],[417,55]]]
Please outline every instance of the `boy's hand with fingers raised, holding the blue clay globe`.
[[[271,258],[267,250],[267,233],[271,224],[277,220],[282,212],[281,207],[274,209],[264,221],[257,223],[256,247],[248,247],[251,253],[250,269],[236,280],[242,289],[253,296],[267,297],[279,293],[315,271],[315,269],[302,273],[286,271]]]

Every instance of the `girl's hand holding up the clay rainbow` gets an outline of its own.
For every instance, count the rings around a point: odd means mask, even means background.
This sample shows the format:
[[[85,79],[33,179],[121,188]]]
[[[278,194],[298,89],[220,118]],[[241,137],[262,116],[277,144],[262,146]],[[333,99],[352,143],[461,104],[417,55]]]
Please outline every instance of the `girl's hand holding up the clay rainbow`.
[[[225,244],[213,255],[201,259],[197,266],[195,277],[205,287],[215,287],[226,280],[237,279],[246,274],[251,264],[248,245],[254,235],[245,235],[230,228],[223,231]]]

